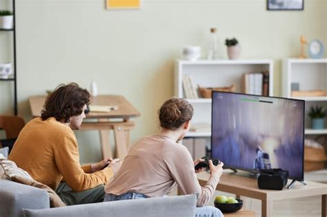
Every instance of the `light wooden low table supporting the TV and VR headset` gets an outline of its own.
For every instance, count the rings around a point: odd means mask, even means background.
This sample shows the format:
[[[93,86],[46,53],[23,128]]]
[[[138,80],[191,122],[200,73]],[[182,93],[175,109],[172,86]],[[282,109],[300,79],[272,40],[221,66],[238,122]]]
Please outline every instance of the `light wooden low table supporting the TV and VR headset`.
[[[207,172],[197,174],[201,186],[206,185],[209,176],[210,174]],[[257,178],[249,177],[245,172],[224,172],[216,189],[221,192],[235,194],[237,198],[239,198],[239,196],[247,196],[249,198],[261,200],[261,216],[263,217],[272,216],[274,200],[321,195],[321,216],[326,217],[327,185],[310,181],[306,181],[306,183],[307,185],[294,183],[290,189],[284,187],[281,191],[264,190],[259,189],[257,186]],[[301,209],[301,207],[299,207],[299,209]]]

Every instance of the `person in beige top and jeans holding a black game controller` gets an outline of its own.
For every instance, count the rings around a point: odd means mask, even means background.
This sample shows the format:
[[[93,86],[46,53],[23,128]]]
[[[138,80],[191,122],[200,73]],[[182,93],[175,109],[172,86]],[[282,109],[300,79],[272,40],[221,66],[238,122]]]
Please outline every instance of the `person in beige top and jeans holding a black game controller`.
[[[161,132],[145,136],[123,161],[112,182],[106,186],[104,201],[164,196],[176,185],[183,194],[197,193],[195,216],[223,216],[215,207],[204,207],[215,192],[223,163],[210,165],[210,178],[199,185],[195,165],[188,149],[177,143],[190,128],[193,107],[185,99],[171,98],[159,110]]]

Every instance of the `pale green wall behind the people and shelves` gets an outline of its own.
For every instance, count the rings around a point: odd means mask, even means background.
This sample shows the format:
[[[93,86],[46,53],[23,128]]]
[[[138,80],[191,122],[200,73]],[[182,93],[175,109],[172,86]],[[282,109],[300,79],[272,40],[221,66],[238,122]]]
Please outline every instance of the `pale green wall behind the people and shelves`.
[[[104,0],[16,0],[19,114],[28,120],[28,97],[59,83],[96,81],[99,94],[121,94],[141,112],[132,141],[155,132],[156,112],[172,96],[173,60],[184,45],[206,50],[211,27],[221,43],[237,37],[242,58],[273,59],[279,95],[281,59],[299,54],[299,36],[327,45],[327,1],[304,1],[304,11],[278,12],[267,11],[266,0],[143,0],[141,10],[105,10]],[[0,61],[10,54],[6,38],[0,32]],[[12,112],[10,86],[0,83],[1,114]],[[99,160],[97,132],[77,136],[82,161]]]

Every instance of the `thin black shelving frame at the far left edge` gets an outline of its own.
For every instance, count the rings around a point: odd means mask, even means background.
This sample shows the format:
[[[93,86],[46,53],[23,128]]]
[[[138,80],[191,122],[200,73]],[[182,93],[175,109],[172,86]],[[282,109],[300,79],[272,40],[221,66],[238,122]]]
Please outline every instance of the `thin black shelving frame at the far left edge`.
[[[13,37],[13,45],[12,45],[12,50],[13,50],[13,68],[12,68],[12,74],[14,74],[13,77],[10,77],[8,79],[0,79],[1,82],[5,81],[10,81],[14,82],[14,115],[17,115],[18,108],[17,108],[17,63],[16,63],[16,11],[15,11],[15,0],[12,0],[12,14],[13,14],[13,23],[14,27],[12,29],[1,29],[1,32],[12,32],[12,37]]]

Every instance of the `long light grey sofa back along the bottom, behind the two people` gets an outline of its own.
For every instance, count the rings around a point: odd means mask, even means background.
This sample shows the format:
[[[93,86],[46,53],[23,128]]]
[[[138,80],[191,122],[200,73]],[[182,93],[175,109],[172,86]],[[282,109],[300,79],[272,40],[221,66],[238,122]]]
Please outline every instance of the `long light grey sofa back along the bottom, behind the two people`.
[[[112,202],[73,205],[52,209],[25,209],[28,216],[194,216],[196,196],[164,196],[137,200],[118,200]]]

